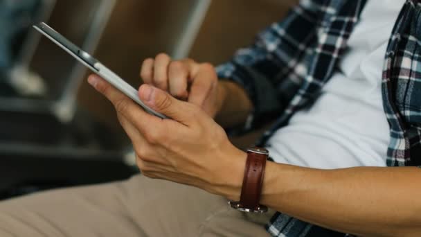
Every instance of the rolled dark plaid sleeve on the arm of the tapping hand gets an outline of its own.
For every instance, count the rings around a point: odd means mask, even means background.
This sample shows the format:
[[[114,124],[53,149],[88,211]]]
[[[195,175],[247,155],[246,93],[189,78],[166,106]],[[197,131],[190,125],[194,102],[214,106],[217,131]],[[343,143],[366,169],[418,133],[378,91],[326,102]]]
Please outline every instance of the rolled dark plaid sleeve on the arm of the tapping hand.
[[[301,85],[305,69],[299,67],[300,61],[314,38],[319,2],[302,0],[283,21],[263,30],[256,42],[217,67],[219,78],[238,83],[253,103],[244,130],[278,116]]]

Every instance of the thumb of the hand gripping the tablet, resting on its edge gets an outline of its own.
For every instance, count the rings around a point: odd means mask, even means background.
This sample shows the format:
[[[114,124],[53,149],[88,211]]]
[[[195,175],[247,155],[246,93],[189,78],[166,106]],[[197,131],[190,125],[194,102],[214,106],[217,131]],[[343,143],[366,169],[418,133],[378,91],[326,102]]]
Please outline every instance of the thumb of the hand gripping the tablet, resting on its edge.
[[[138,94],[143,103],[156,112],[165,114],[184,125],[190,123],[189,114],[191,115],[192,107],[188,103],[177,100],[167,92],[147,84],[141,85]]]

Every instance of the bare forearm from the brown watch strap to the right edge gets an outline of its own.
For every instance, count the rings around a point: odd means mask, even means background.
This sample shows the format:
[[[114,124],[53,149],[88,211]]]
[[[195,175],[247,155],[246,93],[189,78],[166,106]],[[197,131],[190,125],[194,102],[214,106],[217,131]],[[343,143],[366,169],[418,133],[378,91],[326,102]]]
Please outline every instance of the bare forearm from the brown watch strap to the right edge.
[[[361,236],[420,236],[419,168],[316,170],[269,162],[262,204]]]

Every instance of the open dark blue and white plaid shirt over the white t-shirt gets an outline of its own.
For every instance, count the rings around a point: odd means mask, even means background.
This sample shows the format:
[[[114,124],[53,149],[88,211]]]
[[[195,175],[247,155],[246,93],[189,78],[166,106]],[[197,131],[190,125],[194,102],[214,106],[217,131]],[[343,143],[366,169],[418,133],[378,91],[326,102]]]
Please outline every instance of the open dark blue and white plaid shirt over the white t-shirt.
[[[377,0],[374,0],[377,1]],[[255,44],[217,67],[220,78],[242,85],[254,112],[247,129],[278,117],[258,146],[310,105],[337,70],[347,40],[366,0],[302,0],[289,15],[264,30]],[[382,96],[390,125],[388,166],[421,165],[421,3],[406,0],[384,61]],[[369,118],[368,118],[369,119]],[[273,236],[339,234],[276,213],[267,225]]]

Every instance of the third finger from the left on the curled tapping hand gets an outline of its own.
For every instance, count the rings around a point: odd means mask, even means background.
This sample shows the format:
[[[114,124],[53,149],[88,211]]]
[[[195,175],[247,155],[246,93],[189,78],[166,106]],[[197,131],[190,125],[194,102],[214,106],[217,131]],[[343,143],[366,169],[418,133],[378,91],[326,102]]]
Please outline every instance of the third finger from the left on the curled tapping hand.
[[[188,67],[188,64],[181,61],[171,62],[168,67],[170,94],[181,100],[186,100],[188,98]]]

